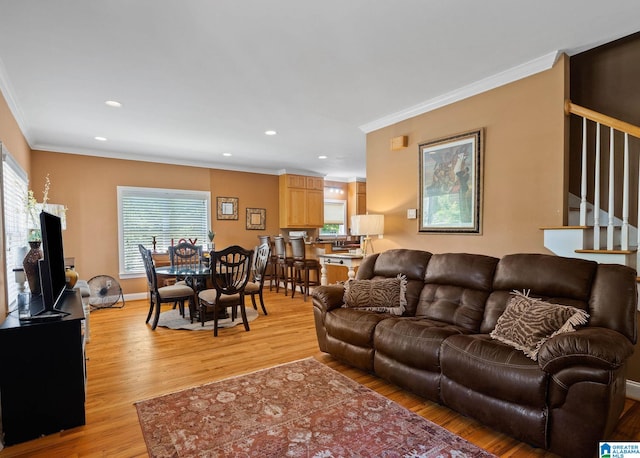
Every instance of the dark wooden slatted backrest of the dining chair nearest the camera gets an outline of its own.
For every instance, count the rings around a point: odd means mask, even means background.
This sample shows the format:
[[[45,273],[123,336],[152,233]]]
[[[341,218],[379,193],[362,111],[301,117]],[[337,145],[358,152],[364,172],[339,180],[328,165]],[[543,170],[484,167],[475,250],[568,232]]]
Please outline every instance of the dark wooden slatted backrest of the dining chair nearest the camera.
[[[244,294],[251,277],[253,251],[232,245],[221,251],[212,251],[211,281],[218,296]]]

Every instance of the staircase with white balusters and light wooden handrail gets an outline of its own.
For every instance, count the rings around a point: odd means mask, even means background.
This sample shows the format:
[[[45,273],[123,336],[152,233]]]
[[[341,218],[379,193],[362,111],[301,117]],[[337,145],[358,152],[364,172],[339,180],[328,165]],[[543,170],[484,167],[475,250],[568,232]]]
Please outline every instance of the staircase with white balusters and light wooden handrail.
[[[565,112],[582,124],[580,196],[570,196],[569,226],[543,228],[544,245],[558,256],[637,269],[640,127],[571,101],[566,102]],[[633,171],[632,162],[637,164]],[[632,182],[636,183],[634,189]],[[635,227],[629,220],[632,205],[638,215]],[[615,216],[616,210],[621,217]]]

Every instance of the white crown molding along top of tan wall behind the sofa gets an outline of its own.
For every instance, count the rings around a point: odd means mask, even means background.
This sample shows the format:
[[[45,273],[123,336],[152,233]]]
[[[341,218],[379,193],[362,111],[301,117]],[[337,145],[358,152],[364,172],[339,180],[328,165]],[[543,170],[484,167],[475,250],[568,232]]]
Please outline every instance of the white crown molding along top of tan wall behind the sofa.
[[[401,121],[413,118],[423,113],[428,113],[437,108],[442,108],[446,105],[450,105],[460,100],[464,100],[474,95],[481,94],[483,92],[495,89],[505,84],[517,81],[522,78],[526,78],[536,73],[549,70],[557,62],[558,58],[562,55],[561,51],[554,51],[544,56],[525,62],[524,64],[510,68],[495,75],[491,75],[487,78],[475,81],[467,86],[463,86],[454,91],[442,94],[438,97],[434,97],[430,100],[425,100],[417,105],[413,105],[404,110],[392,113],[382,118],[371,121],[370,123],[360,126],[365,134],[373,132],[383,127],[396,124]]]

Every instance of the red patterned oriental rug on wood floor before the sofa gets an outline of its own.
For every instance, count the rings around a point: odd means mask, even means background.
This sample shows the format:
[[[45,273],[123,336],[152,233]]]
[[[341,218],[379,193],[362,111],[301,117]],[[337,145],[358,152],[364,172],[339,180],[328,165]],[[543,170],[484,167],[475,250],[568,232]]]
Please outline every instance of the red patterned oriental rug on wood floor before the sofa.
[[[151,457],[493,457],[313,358],[137,402]]]

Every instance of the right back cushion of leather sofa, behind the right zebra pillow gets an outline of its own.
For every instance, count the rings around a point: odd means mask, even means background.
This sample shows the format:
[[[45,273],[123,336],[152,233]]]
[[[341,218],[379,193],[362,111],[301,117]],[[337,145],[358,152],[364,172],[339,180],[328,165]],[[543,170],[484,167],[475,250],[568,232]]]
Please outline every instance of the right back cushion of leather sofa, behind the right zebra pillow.
[[[496,267],[480,332],[489,333],[495,328],[512,291],[590,313],[589,298],[597,269],[596,262],[584,259],[527,253],[504,256]]]

